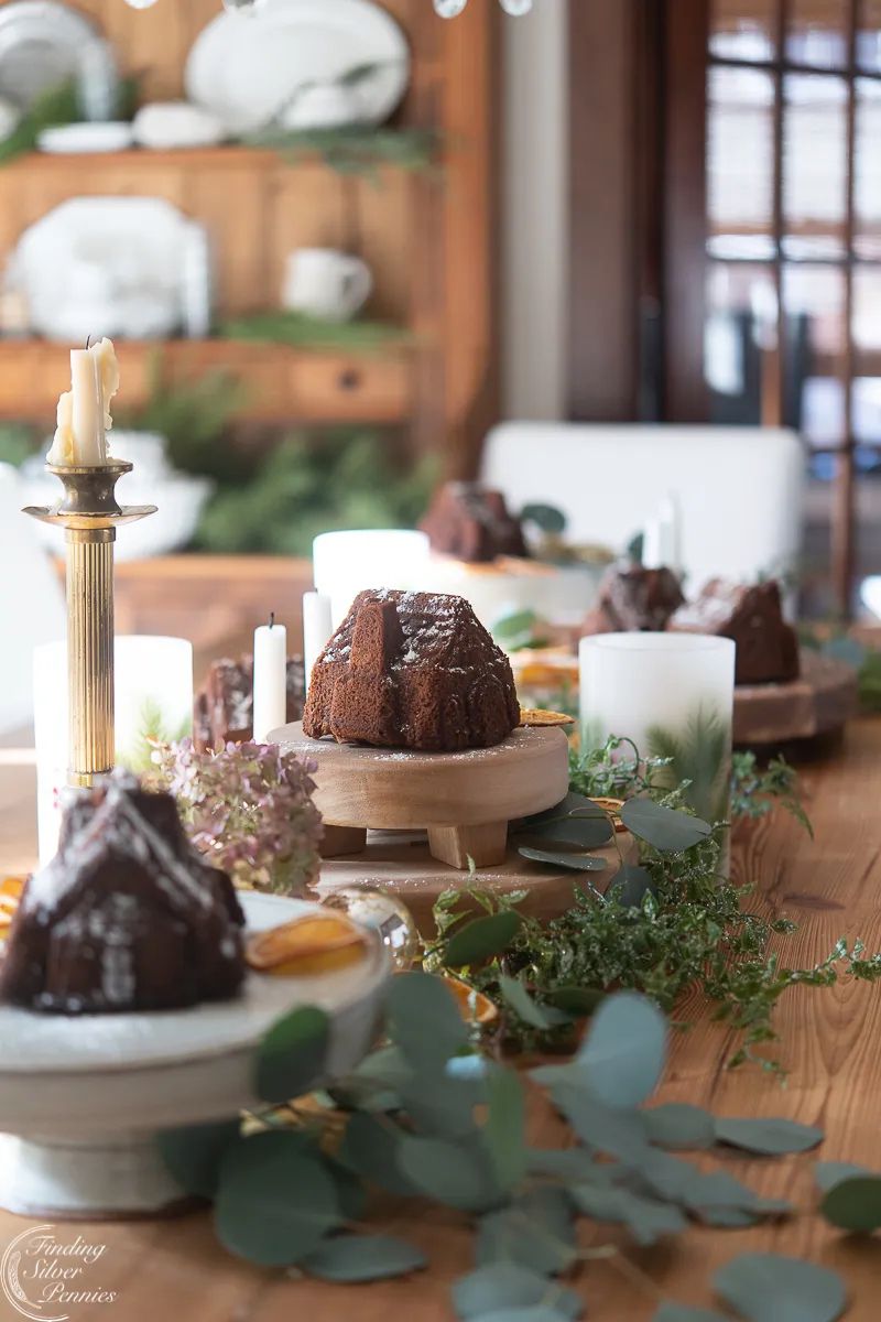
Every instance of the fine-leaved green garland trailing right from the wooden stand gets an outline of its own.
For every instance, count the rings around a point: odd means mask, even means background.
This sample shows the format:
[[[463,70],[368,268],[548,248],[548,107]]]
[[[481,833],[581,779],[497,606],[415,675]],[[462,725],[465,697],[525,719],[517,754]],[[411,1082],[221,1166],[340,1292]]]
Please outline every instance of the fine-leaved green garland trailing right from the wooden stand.
[[[641,795],[678,808],[684,787],[670,793],[658,785],[666,763],[656,759],[643,764],[635,748],[631,758],[622,759],[625,744],[610,739],[586,758],[573,756],[573,792],[618,798]],[[733,777],[737,817],[763,816],[775,802],[807,824],[791,767],[778,759],[759,772],[752,755],[738,756]],[[552,834],[551,828],[547,830]],[[479,888],[448,891],[436,906],[441,941],[429,949],[427,966],[454,969],[505,1006],[503,1036],[520,1050],[565,1046],[572,1026],[524,1019],[515,1005],[506,1003],[507,978],[522,980],[539,1005],[551,1007],[565,1003],[573,989],[598,999],[609,989],[633,988],[674,1011],[683,994],[696,986],[715,1003],[716,1018],[740,1035],[729,1066],[752,1060],[762,1069],[781,1072],[775,1059],[757,1050],[778,1039],[773,1013],[781,995],[796,985],[831,986],[841,972],[866,981],[881,978],[881,954],[866,958],[861,941],[848,947],[841,939],[812,968],[781,962],[769,953],[769,941],[774,935],[791,935],[795,924],[786,917],[766,919],[745,907],[752,887],[734,886],[719,875],[721,833],[709,832],[709,826],[707,832],[682,851],[639,841],[639,865],[622,869],[619,884],[618,878],[613,879],[602,895],[589,882],[573,883],[572,907],[549,924],[519,915],[524,892],[499,898]],[[565,862],[564,854],[553,858],[557,867]],[[474,906],[487,915],[518,912],[519,923],[493,958],[472,964],[448,939],[468,929]]]

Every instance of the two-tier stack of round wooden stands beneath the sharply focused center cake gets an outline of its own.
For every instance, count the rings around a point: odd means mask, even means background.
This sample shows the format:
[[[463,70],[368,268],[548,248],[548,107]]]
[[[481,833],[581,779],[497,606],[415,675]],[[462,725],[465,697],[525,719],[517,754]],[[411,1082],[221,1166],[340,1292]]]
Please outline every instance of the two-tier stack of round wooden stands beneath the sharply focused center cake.
[[[494,748],[458,754],[308,739],[299,722],[269,739],[318,765],[316,802],[328,859],[317,887],[322,898],[353,884],[384,887],[400,895],[424,932],[437,896],[457,884],[528,890],[524,912],[540,917],[571,906],[577,874],[530,863],[507,841],[510,821],[553,808],[567,795],[561,730],[520,727]],[[613,870],[610,863],[605,876]]]

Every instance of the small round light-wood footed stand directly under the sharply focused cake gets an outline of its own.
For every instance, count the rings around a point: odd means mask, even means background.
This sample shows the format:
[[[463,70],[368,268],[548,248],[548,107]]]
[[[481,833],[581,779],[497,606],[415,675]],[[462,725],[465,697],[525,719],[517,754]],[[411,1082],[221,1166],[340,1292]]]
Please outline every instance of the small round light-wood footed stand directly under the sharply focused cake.
[[[506,858],[509,822],[553,808],[569,788],[568,742],[556,727],[520,727],[494,748],[465,752],[309,739],[300,722],[269,740],[318,764],[325,858],[362,853],[371,828],[425,830],[432,858],[494,867]]]

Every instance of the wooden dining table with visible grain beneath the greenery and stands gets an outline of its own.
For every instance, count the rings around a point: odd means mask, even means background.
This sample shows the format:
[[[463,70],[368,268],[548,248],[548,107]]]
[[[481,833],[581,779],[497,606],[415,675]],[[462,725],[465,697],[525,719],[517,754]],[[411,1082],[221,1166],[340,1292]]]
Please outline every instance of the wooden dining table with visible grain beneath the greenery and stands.
[[[766,915],[798,923],[774,939],[786,964],[811,966],[841,936],[881,949],[881,720],[851,724],[841,746],[800,768],[815,838],[786,813],[740,826],[733,869],[754,887],[752,903]],[[33,865],[34,769],[26,750],[0,754],[0,870]],[[783,1158],[713,1155],[761,1195],[786,1198],[798,1215],[752,1229],[693,1227],[650,1249],[627,1249],[626,1261],[586,1263],[573,1280],[593,1322],[649,1322],[660,1298],[709,1306],[712,1273],[742,1252],[773,1251],[837,1269],[848,1282],[848,1322],[881,1315],[881,1237],[847,1236],[816,1215],[812,1166],[820,1159],[881,1169],[881,986],[844,978],[826,989],[785,993],[773,1048],[786,1083],[754,1066],[726,1068],[736,1039],[713,1021],[713,1007],[692,992],[674,1030],[670,1064],[658,1101],[688,1101],[725,1116],[786,1116],[818,1125],[818,1153]],[[3,1044],[0,1043],[0,1050]],[[571,1142],[542,1096],[531,1099],[531,1138],[539,1146]],[[701,1158],[703,1159],[703,1158]],[[371,1228],[402,1235],[429,1259],[425,1272],[376,1285],[328,1285],[296,1273],[267,1272],[227,1255],[210,1215],[166,1220],[57,1225],[59,1239],[81,1233],[106,1245],[100,1285],[112,1303],[70,1305],[71,1322],[441,1322],[452,1319],[450,1284],[473,1266],[473,1235],[461,1216],[411,1202],[375,1208]],[[0,1253],[28,1223],[0,1214]],[[582,1223],[585,1244],[623,1243],[613,1227]],[[5,1311],[4,1311],[5,1309]],[[18,1314],[0,1296],[0,1319]]]

